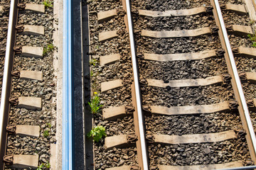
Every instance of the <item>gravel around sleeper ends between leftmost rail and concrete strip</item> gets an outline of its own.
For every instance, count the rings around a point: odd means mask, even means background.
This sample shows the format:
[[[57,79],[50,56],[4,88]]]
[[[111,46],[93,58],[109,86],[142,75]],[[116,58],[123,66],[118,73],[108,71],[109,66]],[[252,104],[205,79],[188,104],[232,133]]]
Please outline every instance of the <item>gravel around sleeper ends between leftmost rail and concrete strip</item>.
[[[26,3],[42,4],[41,1],[24,1]],[[18,24],[43,26],[44,36],[16,35],[16,45],[47,47],[53,43],[53,8],[46,8],[46,13],[33,13],[32,11],[19,11]],[[54,47],[54,50],[57,50]],[[42,98],[42,109],[31,111],[26,108],[11,106],[9,124],[38,125],[40,137],[21,137],[9,135],[6,154],[38,154],[41,164],[50,162],[50,144],[55,144],[56,132],[56,82],[53,74],[53,52],[46,52],[42,59],[16,55],[14,70],[30,70],[43,72],[43,81],[22,80],[12,78],[11,96],[31,96]],[[48,132],[48,134],[46,134]],[[14,169],[6,166],[6,169]]]

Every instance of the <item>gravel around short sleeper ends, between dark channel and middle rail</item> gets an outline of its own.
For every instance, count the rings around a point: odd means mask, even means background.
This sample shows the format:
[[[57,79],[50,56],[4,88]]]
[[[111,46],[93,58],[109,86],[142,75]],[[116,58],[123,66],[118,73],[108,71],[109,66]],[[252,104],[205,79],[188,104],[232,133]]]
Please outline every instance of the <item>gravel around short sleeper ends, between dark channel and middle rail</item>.
[[[99,42],[99,33],[108,30],[124,30],[124,19],[122,16],[116,16],[110,21],[97,23],[97,13],[99,11],[107,11],[112,8],[121,9],[121,1],[90,1],[90,40],[92,60],[96,60],[91,64],[91,86],[92,92],[97,91],[100,96],[102,108],[109,106],[131,106],[131,84],[132,84],[132,62],[129,53],[129,35],[119,35],[118,38]],[[113,64],[100,66],[100,56],[119,53],[121,60]],[[89,79],[89,75],[87,77]],[[122,79],[123,87],[112,89],[100,93],[100,84],[105,81],[114,79]],[[122,135],[134,132],[132,116],[126,116],[122,119],[113,121],[103,120],[102,112],[94,115],[94,126],[102,125],[106,129],[107,136]],[[95,142],[95,169],[106,169],[114,166],[135,165],[137,164],[137,149],[129,147],[124,149],[108,149],[104,148],[104,139]],[[90,155],[87,155],[90,157]]]

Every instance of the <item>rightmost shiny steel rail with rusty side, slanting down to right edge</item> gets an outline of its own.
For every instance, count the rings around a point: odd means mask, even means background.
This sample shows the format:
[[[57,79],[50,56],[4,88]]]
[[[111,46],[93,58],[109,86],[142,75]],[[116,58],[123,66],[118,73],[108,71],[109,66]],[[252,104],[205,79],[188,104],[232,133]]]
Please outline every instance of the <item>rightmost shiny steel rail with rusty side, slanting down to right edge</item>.
[[[245,95],[242,91],[242,85],[241,85],[240,78],[238,75],[238,70],[235,65],[235,59],[234,59],[233,52],[232,52],[232,49],[230,46],[230,42],[228,40],[228,33],[225,28],[225,23],[223,21],[223,16],[221,14],[220,5],[218,3],[218,0],[211,0],[211,3],[214,4],[214,8],[217,11],[217,13],[215,13],[215,11],[213,11],[213,14],[215,16],[216,24],[221,28],[221,30],[219,31],[220,41],[222,42],[222,45],[224,45],[224,47],[225,47],[224,48],[226,51],[225,60],[227,62],[227,66],[228,66],[228,72],[230,73],[230,75],[232,77],[231,82],[233,84],[235,98],[238,100],[238,103],[239,103],[238,111],[240,113],[242,125],[247,132],[246,140],[247,140],[247,145],[250,150],[250,155],[251,155],[252,161],[255,162],[255,160],[256,160],[255,132],[254,132],[254,129],[252,126],[252,122],[250,120],[250,114],[249,114],[249,111],[247,108],[247,103],[245,101]],[[228,52],[228,54],[227,54],[227,52]]]

